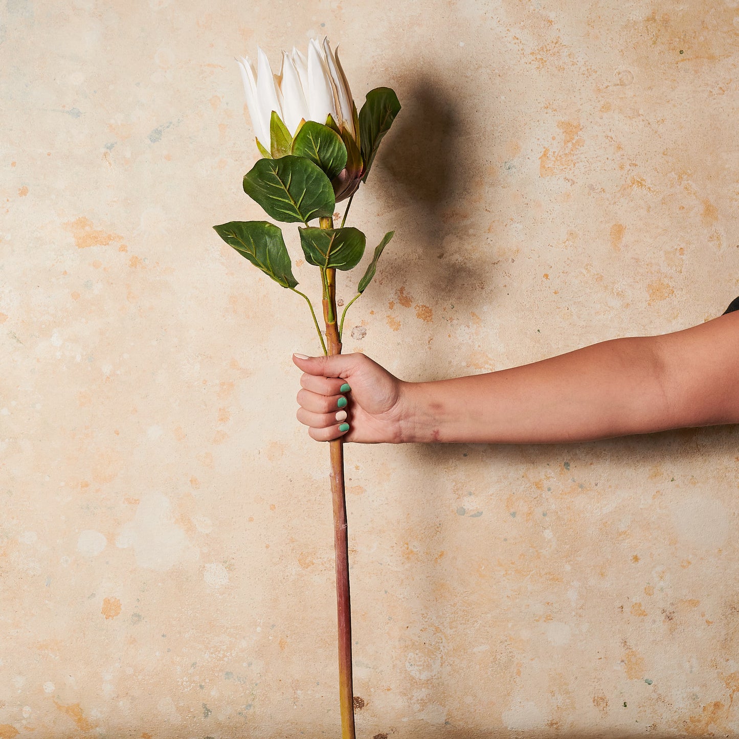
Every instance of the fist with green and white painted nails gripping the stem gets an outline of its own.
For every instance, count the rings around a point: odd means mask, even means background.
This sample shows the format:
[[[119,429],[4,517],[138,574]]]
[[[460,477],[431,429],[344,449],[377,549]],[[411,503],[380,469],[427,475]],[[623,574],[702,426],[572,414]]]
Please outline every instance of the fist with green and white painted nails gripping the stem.
[[[343,436],[360,443],[402,440],[406,383],[364,354],[308,358],[293,354],[293,362],[303,370],[296,415],[309,427],[311,438],[330,441]],[[345,384],[350,389],[344,387],[342,392]]]

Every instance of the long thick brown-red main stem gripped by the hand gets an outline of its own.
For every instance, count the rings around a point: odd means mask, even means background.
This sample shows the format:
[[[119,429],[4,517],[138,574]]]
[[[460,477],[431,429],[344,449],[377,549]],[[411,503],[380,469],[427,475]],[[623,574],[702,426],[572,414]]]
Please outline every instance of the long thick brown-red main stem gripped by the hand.
[[[321,228],[333,228],[333,218],[321,218]],[[341,354],[336,326],[336,270],[325,270],[327,297],[323,301],[329,355]],[[347,501],[344,493],[344,443],[329,442],[331,497],[333,499],[333,543],[336,554],[336,614],[338,617],[338,697],[341,707],[341,739],[355,739],[354,689],[352,681],[352,611],[349,596],[349,541]]]

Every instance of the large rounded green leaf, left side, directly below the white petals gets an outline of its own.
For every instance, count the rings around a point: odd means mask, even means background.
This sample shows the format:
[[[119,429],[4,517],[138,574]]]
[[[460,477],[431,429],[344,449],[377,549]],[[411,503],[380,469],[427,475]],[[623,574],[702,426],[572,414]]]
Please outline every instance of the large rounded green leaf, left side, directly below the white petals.
[[[244,192],[283,223],[329,217],[336,207],[331,181],[305,157],[260,159],[244,176]]]

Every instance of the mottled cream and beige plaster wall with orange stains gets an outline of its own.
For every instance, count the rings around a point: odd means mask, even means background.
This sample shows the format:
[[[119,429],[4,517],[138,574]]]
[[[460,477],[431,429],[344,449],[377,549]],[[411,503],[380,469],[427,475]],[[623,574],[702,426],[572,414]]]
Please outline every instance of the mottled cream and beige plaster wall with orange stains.
[[[1,739],[338,736],[316,338],[211,230],[262,217],[234,55],[324,33],[403,104],[345,350],[442,378],[739,294],[735,0],[4,0]],[[358,736],[738,736],[737,441],[348,447]]]

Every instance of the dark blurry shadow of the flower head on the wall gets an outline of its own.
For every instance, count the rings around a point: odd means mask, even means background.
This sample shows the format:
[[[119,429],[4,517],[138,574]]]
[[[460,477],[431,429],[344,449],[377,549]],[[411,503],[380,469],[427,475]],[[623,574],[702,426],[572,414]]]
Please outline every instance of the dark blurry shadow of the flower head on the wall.
[[[374,184],[381,185],[378,197],[388,208],[403,209],[396,225],[399,234],[408,232],[410,251],[390,249],[384,269],[394,276],[394,288],[406,285],[417,295],[476,310],[483,288],[491,287],[490,262],[496,255],[472,264],[458,249],[449,250],[445,239],[469,239],[469,217],[494,207],[473,191],[483,183],[483,151],[492,148],[491,134],[475,127],[480,124],[467,109],[471,103],[460,100],[435,70],[412,70],[398,78],[403,109],[383,140],[375,164],[383,181]]]

